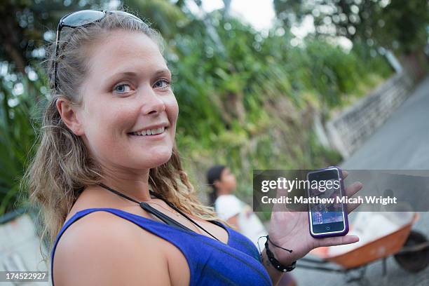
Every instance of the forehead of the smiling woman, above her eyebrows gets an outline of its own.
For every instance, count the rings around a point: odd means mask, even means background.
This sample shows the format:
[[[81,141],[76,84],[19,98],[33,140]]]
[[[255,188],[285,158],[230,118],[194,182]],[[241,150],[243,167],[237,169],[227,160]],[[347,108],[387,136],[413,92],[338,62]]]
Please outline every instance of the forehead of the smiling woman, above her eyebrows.
[[[150,73],[167,68],[158,45],[142,32],[115,30],[90,47],[90,76],[109,76],[118,71],[135,69]]]

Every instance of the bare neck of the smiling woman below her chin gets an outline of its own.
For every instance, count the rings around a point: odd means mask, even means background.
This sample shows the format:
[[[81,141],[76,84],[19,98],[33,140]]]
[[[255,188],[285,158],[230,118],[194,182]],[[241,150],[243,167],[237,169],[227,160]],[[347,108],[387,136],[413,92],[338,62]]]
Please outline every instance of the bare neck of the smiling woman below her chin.
[[[149,193],[149,169],[139,170],[138,172],[130,172],[129,170],[126,172],[114,170],[112,172],[112,170],[104,170],[101,182],[111,189],[140,202],[151,200]]]

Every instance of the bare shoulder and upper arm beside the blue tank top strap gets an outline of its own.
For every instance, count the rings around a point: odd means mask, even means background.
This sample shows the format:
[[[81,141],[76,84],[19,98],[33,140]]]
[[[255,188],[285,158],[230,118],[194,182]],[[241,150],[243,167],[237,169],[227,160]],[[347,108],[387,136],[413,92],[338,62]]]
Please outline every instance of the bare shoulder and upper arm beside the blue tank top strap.
[[[60,238],[55,285],[170,285],[168,259],[153,237],[109,212],[86,214]]]

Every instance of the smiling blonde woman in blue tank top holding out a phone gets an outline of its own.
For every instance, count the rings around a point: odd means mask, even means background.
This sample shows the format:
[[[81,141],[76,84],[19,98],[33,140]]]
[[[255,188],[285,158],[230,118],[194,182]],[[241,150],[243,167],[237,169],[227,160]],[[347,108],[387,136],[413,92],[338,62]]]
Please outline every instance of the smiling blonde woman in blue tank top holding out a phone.
[[[266,252],[260,260],[218,222],[182,170],[161,37],[130,14],[79,11],[60,21],[57,42],[41,144],[25,175],[53,243],[53,284],[275,285],[282,272]],[[358,240],[314,240],[305,214],[285,212],[273,213],[269,234],[294,250],[268,245],[285,266]]]

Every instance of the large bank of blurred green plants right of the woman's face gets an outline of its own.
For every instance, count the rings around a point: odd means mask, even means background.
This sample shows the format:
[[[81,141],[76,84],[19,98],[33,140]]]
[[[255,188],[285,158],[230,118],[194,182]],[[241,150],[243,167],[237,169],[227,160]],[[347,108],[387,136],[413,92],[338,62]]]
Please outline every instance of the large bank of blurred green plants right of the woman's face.
[[[319,168],[339,163],[318,145],[314,109],[325,116],[348,97],[367,93],[392,70],[359,46],[347,52],[323,39],[292,46],[289,34],[255,32],[237,19],[210,15],[224,45],[205,27],[170,39],[170,68],[179,102],[177,141],[195,180],[214,163],[229,165],[238,193],[251,198],[253,169]],[[364,86],[365,88],[362,88]],[[204,182],[199,182],[202,185]]]

